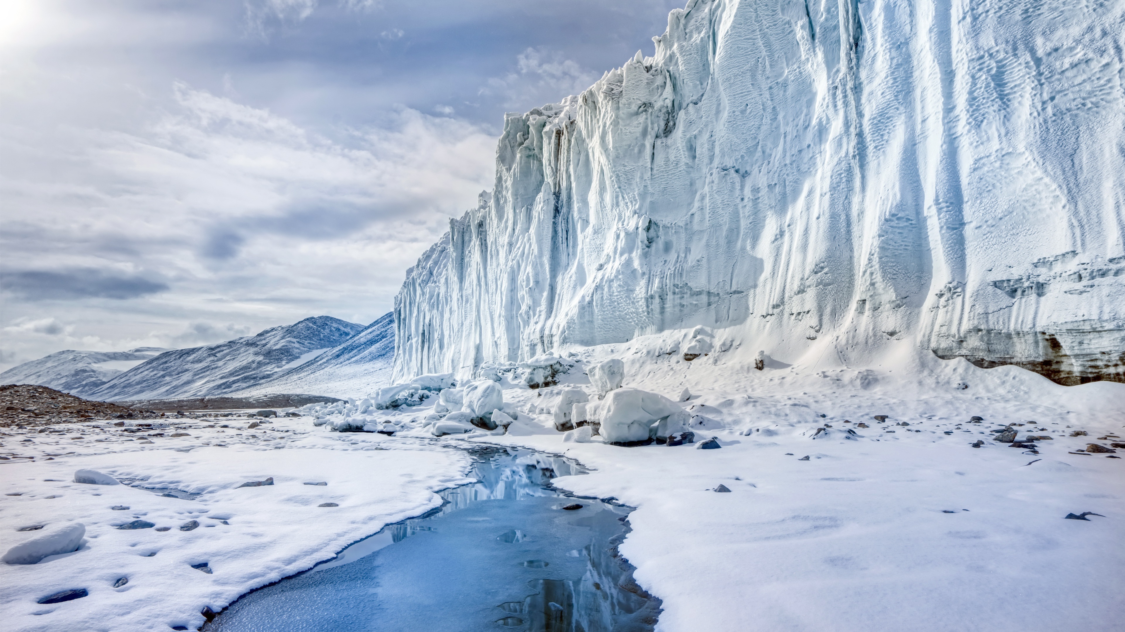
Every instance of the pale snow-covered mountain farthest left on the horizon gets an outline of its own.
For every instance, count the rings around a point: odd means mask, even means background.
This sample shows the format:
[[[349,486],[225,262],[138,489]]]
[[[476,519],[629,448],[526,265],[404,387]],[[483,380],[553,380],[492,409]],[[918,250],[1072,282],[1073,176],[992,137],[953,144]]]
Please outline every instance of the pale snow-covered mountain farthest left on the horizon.
[[[129,351],[60,351],[0,373],[0,383],[34,383],[78,397],[170,349],[138,346]]]

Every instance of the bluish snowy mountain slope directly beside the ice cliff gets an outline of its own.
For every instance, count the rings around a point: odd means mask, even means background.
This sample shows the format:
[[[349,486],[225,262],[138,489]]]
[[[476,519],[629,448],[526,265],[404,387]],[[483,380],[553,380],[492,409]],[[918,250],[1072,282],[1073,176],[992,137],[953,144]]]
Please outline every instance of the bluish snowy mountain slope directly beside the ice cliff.
[[[394,361],[395,315],[389,313],[340,346],[236,395],[315,392],[358,397],[388,386]]]

